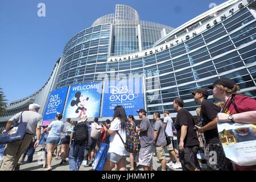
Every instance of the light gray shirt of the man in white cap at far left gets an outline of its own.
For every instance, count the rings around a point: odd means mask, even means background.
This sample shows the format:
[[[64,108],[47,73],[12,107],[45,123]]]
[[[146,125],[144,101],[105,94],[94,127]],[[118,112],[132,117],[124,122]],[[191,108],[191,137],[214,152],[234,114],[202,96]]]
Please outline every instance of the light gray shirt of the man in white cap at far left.
[[[19,118],[21,117],[21,113],[15,114],[10,121],[13,122],[13,125],[16,122],[19,122]],[[42,115],[38,114],[36,111],[29,110],[23,111],[22,113],[22,122],[27,122],[26,133],[35,134],[37,126],[42,125]]]

